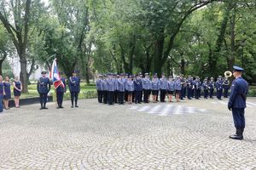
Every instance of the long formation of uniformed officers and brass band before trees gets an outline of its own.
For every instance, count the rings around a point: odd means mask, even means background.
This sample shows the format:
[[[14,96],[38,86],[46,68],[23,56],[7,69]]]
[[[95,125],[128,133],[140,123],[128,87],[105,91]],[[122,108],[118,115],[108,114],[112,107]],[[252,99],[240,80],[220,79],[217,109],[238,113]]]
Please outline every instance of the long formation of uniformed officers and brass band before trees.
[[[172,102],[172,96],[176,101],[180,99],[200,99],[203,91],[204,98],[213,99],[213,91],[216,88],[217,98],[221,99],[224,91],[224,97],[228,98],[230,89],[230,81],[227,77],[218,77],[214,82],[213,77],[208,80],[206,77],[201,82],[200,77],[165,77],[164,74],[160,78],[156,74],[150,79],[148,73],[137,74],[136,76],[128,76],[127,74],[108,74],[99,75],[96,80],[96,89],[98,94],[98,102],[108,105],[119,103],[123,105],[134,103],[148,103],[152,94],[152,101],[156,103],[160,94],[160,102],[165,102],[166,96],[169,102]]]

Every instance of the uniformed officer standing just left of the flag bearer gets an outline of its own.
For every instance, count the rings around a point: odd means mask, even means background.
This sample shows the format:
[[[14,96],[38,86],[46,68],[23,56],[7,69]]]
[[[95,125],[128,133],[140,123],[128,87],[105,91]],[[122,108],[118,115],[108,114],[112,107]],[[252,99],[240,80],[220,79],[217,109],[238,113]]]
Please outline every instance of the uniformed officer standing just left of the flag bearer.
[[[45,105],[47,103],[47,94],[49,93],[50,90],[50,82],[49,78],[46,77],[46,71],[41,72],[42,77],[39,78],[38,80],[38,94],[40,95],[40,104],[42,109],[48,109]]]

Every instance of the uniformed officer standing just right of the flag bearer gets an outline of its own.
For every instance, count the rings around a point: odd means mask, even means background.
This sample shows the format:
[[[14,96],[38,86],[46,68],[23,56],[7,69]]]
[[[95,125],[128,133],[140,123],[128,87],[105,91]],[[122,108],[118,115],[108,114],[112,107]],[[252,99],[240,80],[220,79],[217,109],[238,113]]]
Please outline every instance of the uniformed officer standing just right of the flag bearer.
[[[71,96],[71,108],[73,108],[73,100],[75,101],[75,107],[79,107],[78,99],[80,93],[80,78],[77,77],[78,71],[73,71],[73,76],[69,77],[68,87]]]

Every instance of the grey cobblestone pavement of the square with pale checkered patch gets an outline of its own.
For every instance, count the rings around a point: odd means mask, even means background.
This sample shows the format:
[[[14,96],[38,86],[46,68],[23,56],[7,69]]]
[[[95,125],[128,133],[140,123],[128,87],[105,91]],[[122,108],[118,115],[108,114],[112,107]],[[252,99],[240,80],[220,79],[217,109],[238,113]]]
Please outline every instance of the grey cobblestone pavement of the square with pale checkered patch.
[[[256,99],[242,141],[223,102],[13,108],[0,114],[0,169],[256,169]]]

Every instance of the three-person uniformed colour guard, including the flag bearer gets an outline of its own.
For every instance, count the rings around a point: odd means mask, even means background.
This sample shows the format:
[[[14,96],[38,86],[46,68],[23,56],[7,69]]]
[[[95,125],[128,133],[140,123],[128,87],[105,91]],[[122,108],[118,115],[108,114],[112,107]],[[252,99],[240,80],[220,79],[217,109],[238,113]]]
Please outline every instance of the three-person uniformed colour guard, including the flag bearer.
[[[61,77],[61,82],[63,85],[60,85],[58,88],[55,89],[56,93],[56,101],[57,101],[57,109],[64,108],[62,106],[63,96],[64,93],[67,92],[67,82],[69,87],[69,92],[71,96],[71,107],[79,107],[78,99],[79,99],[79,92],[80,92],[80,79],[77,77],[78,71],[73,71],[73,76],[69,77],[66,80],[64,77]],[[62,75],[60,73],[60,75]],[[38,80],[38,94],[40,96],[40,110],[48,109],[46,107],[47,103],[47,94],[49,94],[49,90],[51,87],[51,82],[49,78],[46,77],[46,71],[42,71],[42,77]]]

